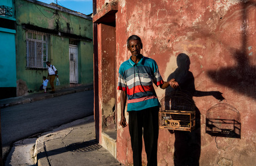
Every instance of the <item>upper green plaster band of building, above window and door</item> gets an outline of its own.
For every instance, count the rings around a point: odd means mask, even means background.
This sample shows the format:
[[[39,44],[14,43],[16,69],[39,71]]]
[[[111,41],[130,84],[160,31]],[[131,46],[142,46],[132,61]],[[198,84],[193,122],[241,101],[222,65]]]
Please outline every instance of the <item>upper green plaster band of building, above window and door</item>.
[[[35,5],[26,0],[15,2],[19,16],[17,23],[31,24],[41,28],[55,29],[63,33],[71,33],[92,39],[92,25],[88,19],[54,10],[46,6]],[[39,19],[40,18],[40,19]]]

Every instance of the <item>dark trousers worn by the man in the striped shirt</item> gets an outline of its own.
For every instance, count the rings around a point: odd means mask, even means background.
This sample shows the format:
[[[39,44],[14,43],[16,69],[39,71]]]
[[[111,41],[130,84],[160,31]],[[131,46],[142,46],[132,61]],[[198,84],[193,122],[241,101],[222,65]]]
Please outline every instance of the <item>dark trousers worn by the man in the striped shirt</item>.
[[[158,111],[159,107],[129,111],[129,131],[134,166],[142,165],[142,133],[147,154],[147,165],[158,165]]]

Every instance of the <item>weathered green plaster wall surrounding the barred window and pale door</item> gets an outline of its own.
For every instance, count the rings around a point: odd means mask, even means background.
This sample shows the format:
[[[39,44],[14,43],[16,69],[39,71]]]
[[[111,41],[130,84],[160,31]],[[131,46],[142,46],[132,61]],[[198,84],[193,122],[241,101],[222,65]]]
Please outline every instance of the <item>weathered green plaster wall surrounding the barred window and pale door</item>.
[[[39,90],[47,70],[26,69],[26,29],[23,25],[36,27],[36,31],[47,29],[46,33],[51,34],[49,61],[59,73],[61,86],[57,88],[69,87],[69,39],[80,40],[79,84],[93,83],[93,42],[84,40],[93,38],[92,20],[24,0],[15,1],[15,7],[17,80],[26,82],[28,91]]]

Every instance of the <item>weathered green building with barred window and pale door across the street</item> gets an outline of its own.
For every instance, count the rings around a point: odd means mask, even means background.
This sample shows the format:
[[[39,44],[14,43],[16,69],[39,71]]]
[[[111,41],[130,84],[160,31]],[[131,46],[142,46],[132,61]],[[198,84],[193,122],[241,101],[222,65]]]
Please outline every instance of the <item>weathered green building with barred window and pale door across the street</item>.
[[[39,91],[47,61],[58,70],[56,90],[93,84],[90,16],[32,0],[16,0],[15,8],[17,96]]]

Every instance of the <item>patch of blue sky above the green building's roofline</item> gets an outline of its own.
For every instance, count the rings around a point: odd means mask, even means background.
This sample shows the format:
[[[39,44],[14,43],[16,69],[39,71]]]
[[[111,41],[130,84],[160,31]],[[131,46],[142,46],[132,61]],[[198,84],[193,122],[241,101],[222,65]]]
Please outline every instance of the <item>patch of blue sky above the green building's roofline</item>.
[[[93,12],[93,0],[38,0],[44,3],[58,3],[58,5],[69,8],[82,14],[91,14]]]

